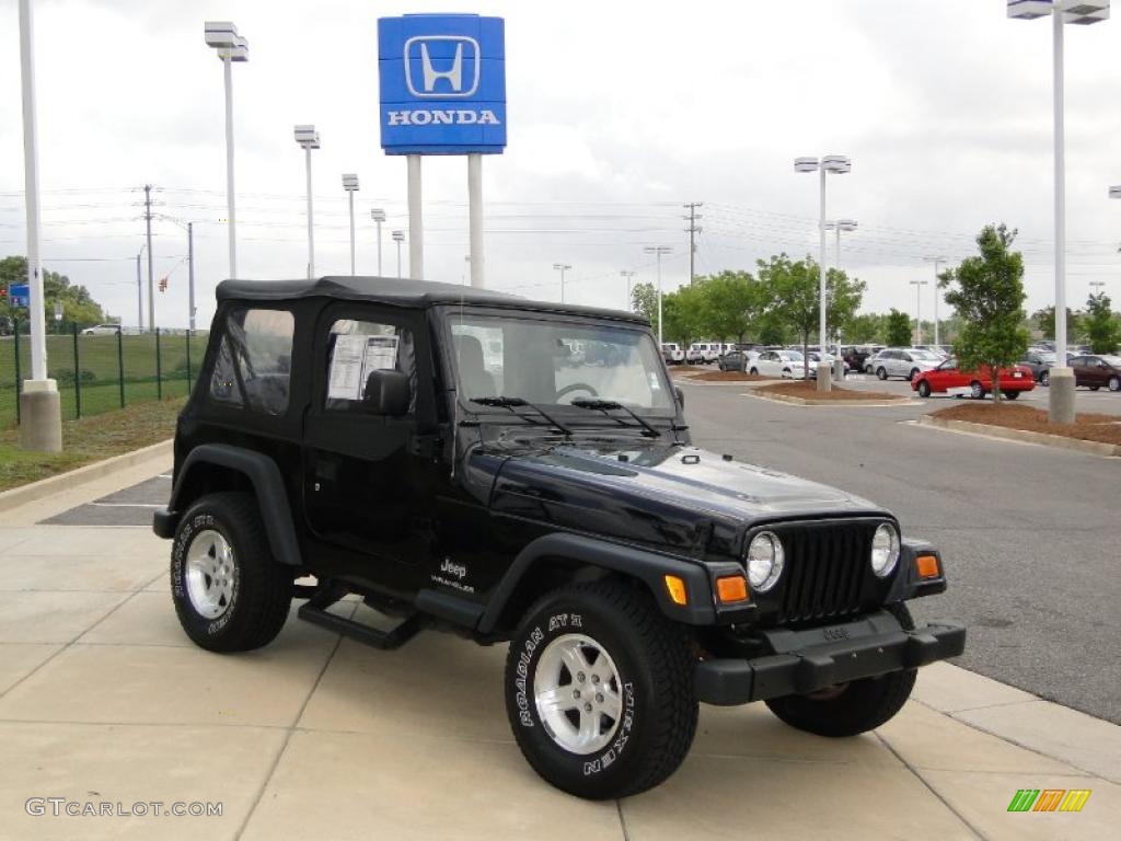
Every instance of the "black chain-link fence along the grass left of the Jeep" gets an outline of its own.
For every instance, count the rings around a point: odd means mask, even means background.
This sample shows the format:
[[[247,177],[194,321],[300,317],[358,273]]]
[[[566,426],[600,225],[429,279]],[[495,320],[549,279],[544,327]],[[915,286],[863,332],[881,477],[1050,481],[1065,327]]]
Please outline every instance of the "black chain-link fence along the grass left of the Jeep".
[[[19,392],[31,376],[30,336],[16,324],[0,336],[0,429],[19,424]],[[63,419],[191,392],[206,351],[205,331],[47,335],[47,376],[58,383]]]

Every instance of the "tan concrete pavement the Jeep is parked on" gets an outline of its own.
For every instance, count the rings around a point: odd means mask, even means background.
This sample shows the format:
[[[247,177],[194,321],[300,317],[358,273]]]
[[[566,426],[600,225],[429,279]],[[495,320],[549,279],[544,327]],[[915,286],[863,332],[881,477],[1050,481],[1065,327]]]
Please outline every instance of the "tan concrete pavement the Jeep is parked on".
[[[761,704],[702,706],[692,754],[660,788],[572,798],[512,741],[504,646],[424,632],[378,651],[293,616],[265,649],[209,654],[179,630],[168,544],[150,530],[35,525],[165,461],[0,517],[0,838],[1117,835],[1121,728],[946,664],[855,739],[798,732]],[[1080,813],[1009,813],[1021,788],[1092,794]],[[223,812],[31,816],[29,797]]]

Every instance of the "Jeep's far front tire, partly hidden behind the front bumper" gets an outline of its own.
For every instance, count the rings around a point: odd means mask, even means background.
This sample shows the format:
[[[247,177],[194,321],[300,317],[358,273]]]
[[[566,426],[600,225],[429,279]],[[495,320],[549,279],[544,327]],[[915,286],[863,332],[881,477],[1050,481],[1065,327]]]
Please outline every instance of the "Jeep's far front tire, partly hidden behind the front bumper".
[[[904,630],[915,628],[906,606],[892,606],[889,610]],[[858,736],[887,723],[904,708],[915,687],[916,672],[908,668],[853,681],[831,697],[786,695],[766,703],[779,719],[798,730],[831,738]]]

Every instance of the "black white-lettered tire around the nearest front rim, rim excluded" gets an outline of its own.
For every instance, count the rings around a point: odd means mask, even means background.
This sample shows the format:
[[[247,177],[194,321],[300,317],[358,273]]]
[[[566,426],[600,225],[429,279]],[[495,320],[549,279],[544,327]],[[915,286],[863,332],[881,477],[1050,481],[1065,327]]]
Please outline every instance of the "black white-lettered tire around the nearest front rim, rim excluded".
[[[590,754],[554,740],[534,690],[541,655],[573,634],[590,637],[611,657],[622,699],[611,740]],[[695,663],[684,628],[666,619],[643,591],[595,582],[547,593],[526,612],[506,663],[506,709],[518,747],[544,779],[577,797],[611,800],[652,788],[677,769],[693,743]]]

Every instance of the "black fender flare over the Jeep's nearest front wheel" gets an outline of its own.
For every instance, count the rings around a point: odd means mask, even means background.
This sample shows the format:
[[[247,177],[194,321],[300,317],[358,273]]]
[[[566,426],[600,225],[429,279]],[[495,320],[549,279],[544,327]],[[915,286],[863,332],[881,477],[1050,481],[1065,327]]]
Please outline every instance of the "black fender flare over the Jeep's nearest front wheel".
[[[584,535],[558,533],[530,542],[513,558],[479,620],[478,630],[481,634],[490,634],[495,629],[522,577],[532,570],[534,564],[547,557],[571,558],[638,579],[650,590],[661,612],[674,621],[713,625],[716,620],[708,571],[700,562]],[[669,598],[666,575],[677,575],[685,582],[687,604],[677,604]]]

